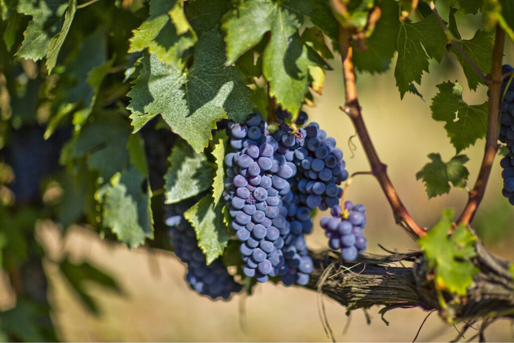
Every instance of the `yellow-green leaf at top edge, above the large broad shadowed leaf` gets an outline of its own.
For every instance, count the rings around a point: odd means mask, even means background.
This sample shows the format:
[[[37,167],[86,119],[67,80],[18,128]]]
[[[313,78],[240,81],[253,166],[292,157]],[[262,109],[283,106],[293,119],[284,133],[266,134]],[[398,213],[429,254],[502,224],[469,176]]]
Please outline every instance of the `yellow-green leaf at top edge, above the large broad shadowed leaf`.
[[[151,0],[150,16],[134,30],[128,52],[148,48],[161,61],[176,64],[196,40],[183,12],[182,0]]]

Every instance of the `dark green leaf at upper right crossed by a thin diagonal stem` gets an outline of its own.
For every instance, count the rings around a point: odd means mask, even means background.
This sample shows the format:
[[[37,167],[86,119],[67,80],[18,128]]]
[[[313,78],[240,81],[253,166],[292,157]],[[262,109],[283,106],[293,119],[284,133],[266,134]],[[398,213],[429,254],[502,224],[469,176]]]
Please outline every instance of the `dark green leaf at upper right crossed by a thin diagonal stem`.
[[[455,24],[454,17],[455,9],[450,11],[450,30],[455,38],[458,40],[457,44],[466,52],[466,55],[482,70],[484,74],[487,74],[492,66],[492,47],[494,45],[494,32],[488,32],[484,30],[478,30],[470,40],[461,40],[461,34],[458,32]],[[453,23],[453,24],[452,24]],[[462,65],[464,75],[468,80],[470,89],[475,90],[476,86],[483,84],[484,81],[478,74],[471,68],[469,63],[464,60],[462,53],[458,52],[453,45],[450,46],[450,51],[455,55],[455,58]]]

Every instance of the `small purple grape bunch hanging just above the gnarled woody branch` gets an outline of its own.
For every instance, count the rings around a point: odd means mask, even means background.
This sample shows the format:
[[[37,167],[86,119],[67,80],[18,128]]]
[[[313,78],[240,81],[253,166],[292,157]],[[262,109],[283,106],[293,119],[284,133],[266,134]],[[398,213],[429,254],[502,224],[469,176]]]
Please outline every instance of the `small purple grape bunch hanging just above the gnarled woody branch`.
[[[333,250],[341,250],[341,258],[354,261],[357,254],[366,249],[366,239],[362,229],[366,226],[364,205],[354,205],[350,201],[344,203],[344,209],[339,205],[331,209],[332,216],[321,219],[320,225],[325,229],[328,246]]]

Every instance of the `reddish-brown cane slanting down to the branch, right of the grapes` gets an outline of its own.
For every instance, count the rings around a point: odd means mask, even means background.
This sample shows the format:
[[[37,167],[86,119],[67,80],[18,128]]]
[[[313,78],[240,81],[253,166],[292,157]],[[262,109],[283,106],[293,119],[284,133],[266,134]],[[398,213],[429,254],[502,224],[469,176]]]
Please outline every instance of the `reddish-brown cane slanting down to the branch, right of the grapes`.
[[[420,227],[414,219],[412,219],[405,206],[403,206],[398,193],[396,193],[396,190],[391,183],[391,179],[387,173],[387,166],[382,163],[378,157],[370,134],[368,133],[368,129],[366,128],[362,118],[361,108],[357,98],[357,85],[355,82],[355,69],[352,61],[353,51],[351,41],[352,38],[350,32],[340,26],[339,46],[341,48],[346,102],[339,108],[346,113],[348,117],[350,117],[355,126],[357,136],[361,141],[366,157],[370,163],[371,171],[391,205],[396,223],[405,228],[414,240],[417,240],[418,237],[425,236],[426,230]]]

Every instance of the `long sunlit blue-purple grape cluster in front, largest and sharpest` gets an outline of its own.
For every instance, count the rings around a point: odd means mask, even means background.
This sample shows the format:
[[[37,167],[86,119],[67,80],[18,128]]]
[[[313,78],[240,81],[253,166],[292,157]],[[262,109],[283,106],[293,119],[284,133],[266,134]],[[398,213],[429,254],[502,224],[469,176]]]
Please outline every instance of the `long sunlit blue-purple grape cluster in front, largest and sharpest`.
[[[244,275],[265,282],[284,265],[281,230],[288,225],[281,197],[290,191],[294,171],[280,154],[267,123],[251,115],[246,124],[229,124],[230,145],[225,156],[225,200],[230,227],[240,240]]]

